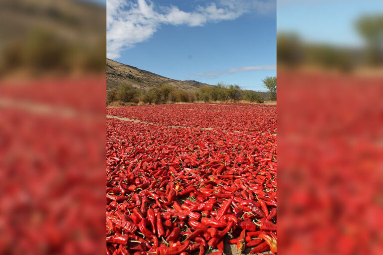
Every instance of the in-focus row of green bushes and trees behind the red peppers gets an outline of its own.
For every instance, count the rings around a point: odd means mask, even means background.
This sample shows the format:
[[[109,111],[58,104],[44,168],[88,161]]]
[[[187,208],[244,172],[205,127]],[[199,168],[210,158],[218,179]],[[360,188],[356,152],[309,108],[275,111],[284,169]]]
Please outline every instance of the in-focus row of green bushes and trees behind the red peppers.
[[[245,100],[254,103],[264,103],[265,100],[276,100],[276,77],[267,76],[262,80],[263,85],[269,91],[269,97],[264,98],[260,92],[243,90],[238,85],[224,85],[218,83],[215,86],[201,86],[194,93],[177,89],[171,85],[143,90],[133,87],[131,84],[122,83],[118,88],[112,89],[107,94],[107,104],[115,101],[138,104],[166,104],[168,102],[193,103],[195,101],[208,102],[238,102]]]

